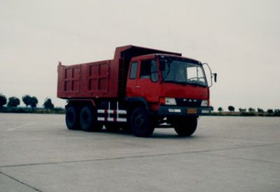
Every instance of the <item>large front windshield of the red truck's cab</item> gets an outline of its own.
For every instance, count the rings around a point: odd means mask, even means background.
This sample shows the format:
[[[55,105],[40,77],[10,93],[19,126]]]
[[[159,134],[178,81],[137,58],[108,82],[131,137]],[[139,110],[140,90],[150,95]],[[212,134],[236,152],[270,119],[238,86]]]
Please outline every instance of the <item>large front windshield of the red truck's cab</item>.
[[[201,65],[173,57],[160,58],[160,70],[164,82],[195,84],[207,87]]]

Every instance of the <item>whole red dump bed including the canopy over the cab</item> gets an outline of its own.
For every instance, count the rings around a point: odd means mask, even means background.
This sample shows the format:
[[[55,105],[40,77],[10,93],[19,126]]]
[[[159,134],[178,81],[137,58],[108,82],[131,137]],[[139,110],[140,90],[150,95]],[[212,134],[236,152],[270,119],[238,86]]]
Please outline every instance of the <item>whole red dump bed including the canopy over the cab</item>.
[[[127,73],[132,57],[145,54],[180,53],[127,45],[117,47],[112,60],[57,67],[57,97],[116,98],[125,96]]]

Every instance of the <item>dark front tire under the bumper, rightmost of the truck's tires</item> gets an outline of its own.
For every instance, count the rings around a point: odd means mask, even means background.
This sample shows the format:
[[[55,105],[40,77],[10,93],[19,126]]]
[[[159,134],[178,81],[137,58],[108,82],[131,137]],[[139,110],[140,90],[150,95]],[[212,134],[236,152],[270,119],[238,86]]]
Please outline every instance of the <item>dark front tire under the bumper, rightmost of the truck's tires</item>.
[[[179,120],[174,124],[176,133],[180,136],[190,136],[195,133],[197,129],[197,117],[188,117],[183,120]]]

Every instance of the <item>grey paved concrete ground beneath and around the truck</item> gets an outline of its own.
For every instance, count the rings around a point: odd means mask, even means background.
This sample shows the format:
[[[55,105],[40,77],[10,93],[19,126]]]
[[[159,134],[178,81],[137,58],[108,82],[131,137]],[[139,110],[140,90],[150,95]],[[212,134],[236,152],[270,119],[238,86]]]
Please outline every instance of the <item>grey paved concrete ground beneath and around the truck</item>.
[[[202,117],[179,138],[68,131],[0,114],[0,191],[280,191],[280,118]]]

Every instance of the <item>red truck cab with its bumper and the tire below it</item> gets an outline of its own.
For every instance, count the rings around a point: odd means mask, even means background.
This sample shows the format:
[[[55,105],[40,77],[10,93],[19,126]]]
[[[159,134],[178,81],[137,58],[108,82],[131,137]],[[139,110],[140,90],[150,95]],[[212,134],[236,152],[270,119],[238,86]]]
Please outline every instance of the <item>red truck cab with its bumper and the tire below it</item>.
[[[127,98],[146,101],[156,126],[172,124],[179,135],[191,135],[197,117],[211,112],[209,84],[202,63],[172,54],[132,58],[126,94]]]

